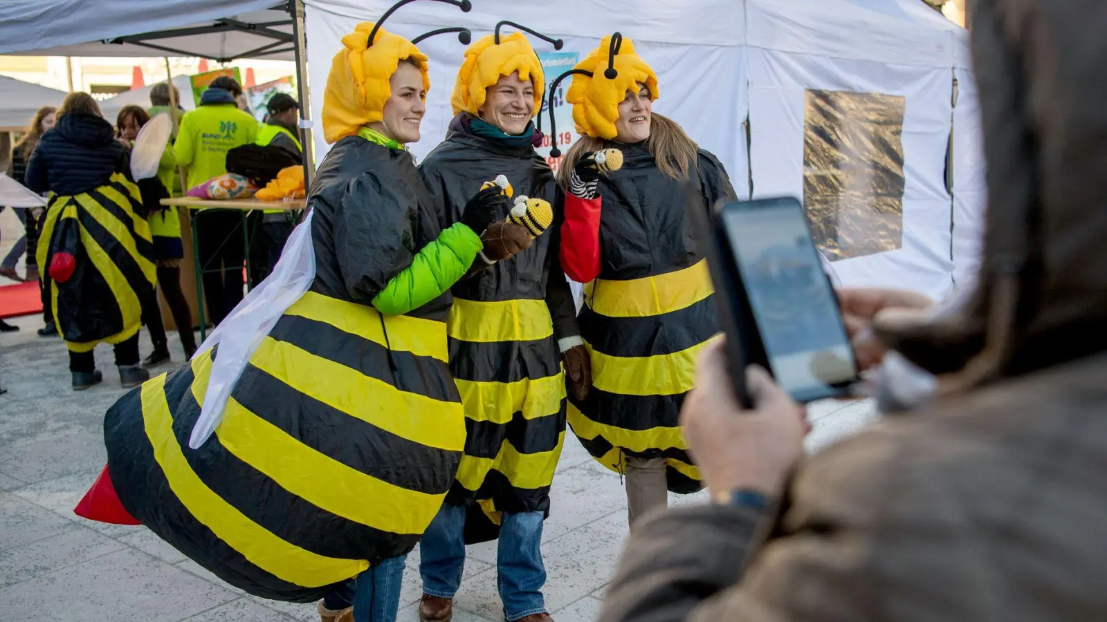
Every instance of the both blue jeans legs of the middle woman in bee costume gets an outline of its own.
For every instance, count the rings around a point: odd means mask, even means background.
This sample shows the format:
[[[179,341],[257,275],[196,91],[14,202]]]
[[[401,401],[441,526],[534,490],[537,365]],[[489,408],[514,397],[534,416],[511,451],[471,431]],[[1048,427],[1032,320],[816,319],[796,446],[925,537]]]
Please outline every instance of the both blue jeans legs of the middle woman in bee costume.
[[[499,549],[496,553],[497,587],[504,616],[518,620],[547,613],[542,599],[546,567],[542,566],[542,512],[503,515]],[[443,504],[420,540],[418,571],[423,591],[452,599],[462,584],[465,569],[465,508]]]

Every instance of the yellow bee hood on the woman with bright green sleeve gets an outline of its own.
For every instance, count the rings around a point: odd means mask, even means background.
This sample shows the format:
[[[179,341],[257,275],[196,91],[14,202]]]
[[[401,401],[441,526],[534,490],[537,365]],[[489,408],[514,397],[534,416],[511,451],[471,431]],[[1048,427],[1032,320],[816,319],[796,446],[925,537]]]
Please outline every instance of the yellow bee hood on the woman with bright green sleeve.
[[[323,93],[323,137],[335,143],[352,136],[366,123],[383,118],[384,103],[392,96],[389,80],[404,59],[412,59],[423,74],[423,89],[431,90],[426,54],[414,43],[377,29],[370,44],[372,22],[362,22],[342,38],[342,49],[334,54]]]

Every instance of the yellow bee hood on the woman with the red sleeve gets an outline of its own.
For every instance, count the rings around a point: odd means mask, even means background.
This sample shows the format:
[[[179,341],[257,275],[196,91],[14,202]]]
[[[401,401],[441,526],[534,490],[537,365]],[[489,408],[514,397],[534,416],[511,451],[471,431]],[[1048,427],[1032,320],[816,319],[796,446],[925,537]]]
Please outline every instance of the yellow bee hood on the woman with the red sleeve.
[[[575,68],[592,73],[573,74],[565,96],[572,104],[572,121],[578,134],[593,138],[614,138],[618,134],[615,121],[619,120],[619,103],[627,96],[627,91],[637,90],[638,84],[645,85],[651,100],[659,96],[658,74],[634,53],[634,43],[630,39],[622,39],[622,44],[619,45],[617,40],[613,64],[611,48],[611,37],[604,37],[600,46],[589,52],[588,58]],[[618,72],[614,80],[606,75],[609,66]]]

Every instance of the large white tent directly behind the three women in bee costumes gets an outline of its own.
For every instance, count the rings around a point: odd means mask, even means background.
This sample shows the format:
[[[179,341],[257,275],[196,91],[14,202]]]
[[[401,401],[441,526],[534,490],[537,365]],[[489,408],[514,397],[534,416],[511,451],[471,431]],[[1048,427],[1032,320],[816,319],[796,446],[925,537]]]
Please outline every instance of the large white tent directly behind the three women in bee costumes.
[[[319,118],[318,94],[341,37],[359,21],[375,20],[391,1],[306,3],[312,117]],[[411,38],[461,25],[477,38],[500,20],[565,39],[565,49],[581,55],[617,30],[632,39],[660,77],[654,110],[720,157],[741,197],[806,197],[809,210],[817,199],[817,220],[825,225],[817,237],[837,250],[835,270],[847,284],[940,297],[954,272],[961,276],[975,261],[984,195],[968,33],[922,2],[666,0],[629,10],[621,0],[477,0],[469,13],[417,2],[386,28]],[[445,134],[463,50],[449,37],[428,39],[421,49],[432,60],[432,89],[416,156]],[[536,49],[546,51],[538,41]],[[850,106],[859,112],[850,114]],[[835,126],[820,127],[811,111]],[[951,196],[946,162],[954,124]],[[325,153],[321,132],[315,141]],[[827,147],[832,157],[819,158]]]

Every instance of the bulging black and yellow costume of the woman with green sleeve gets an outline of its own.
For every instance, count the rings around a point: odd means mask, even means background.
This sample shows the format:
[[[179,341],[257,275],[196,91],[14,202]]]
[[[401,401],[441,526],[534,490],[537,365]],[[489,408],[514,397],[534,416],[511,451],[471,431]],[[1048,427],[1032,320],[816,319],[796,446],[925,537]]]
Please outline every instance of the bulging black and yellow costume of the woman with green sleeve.
[[[215,434],[188,448],[210,352],[105,419],[132,516],[228,583],[297,602],[411,551],[465,444],[449,293],[405,315],[366,300],[439,232],[412,157],[343,138],[309,207],[315,280],[250,357]]]

